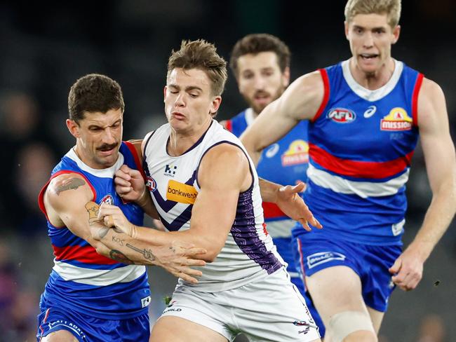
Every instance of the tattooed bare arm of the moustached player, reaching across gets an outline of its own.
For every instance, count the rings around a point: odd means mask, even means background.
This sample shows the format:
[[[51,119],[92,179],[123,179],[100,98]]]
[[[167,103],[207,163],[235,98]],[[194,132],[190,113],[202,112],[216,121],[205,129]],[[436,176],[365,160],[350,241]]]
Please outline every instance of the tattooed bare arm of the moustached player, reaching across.
[[[93,202],[93,192],[86,179],[79,174],[69,173],[52,179],[44,203],[51,224],[67,226],[105,257],[125,264],[161,266],[173,274],[183,273],[182,278],[201,274],[188,266],[204,264],[203,261],[192,259],[203,250],[192,246],[138,245],[132,243],[125,233],[102,224],[97,217],[98,205]],[[103,239],[100,237],[109,239],[111,243],[101,243]]]

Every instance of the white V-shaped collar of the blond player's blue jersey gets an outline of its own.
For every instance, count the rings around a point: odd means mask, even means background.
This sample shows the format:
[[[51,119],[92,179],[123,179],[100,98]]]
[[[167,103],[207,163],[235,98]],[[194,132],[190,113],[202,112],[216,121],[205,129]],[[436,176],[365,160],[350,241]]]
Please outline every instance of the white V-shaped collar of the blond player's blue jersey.
[[[344,62],[342,62],[342,72],[344,73],[345,81],[347,81],[349,87],[351,88],[351,90],[354,91],[356,95],[362,97],[364,100],[367,101],[377,101],[391,93],[391,90],[394,89],[394,87],[399,81],[399,78],[401,77],[403,67],[403,62],[394,60],[393,75],[391,76],[391,78],[389,78],[387,84],[385,84],[381,88],[369,90],[361,86],[358,82],[355,81],[353,76],[351,76],[349,60],[344,60]]]

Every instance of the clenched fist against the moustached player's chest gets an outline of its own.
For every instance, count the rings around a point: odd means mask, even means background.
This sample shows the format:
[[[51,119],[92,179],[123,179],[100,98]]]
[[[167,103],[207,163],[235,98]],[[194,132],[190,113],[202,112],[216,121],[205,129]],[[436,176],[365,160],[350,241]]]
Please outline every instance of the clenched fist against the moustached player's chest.
[[[134,202],[141,198],[146,189],[141,172],[131,169],[127,165],[122,165],[115,175],[116,193],[123,200]]]

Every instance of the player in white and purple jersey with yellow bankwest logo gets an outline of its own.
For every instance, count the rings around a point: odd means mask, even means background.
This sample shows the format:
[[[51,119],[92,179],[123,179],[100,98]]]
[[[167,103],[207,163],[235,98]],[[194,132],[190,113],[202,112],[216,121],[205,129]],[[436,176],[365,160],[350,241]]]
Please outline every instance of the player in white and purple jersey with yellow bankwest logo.
[[[224,342],[241,332],[250,341],[320,341],[264,226],[255,167],[239,139],[213,119],[226,78],[213,44],[183,41],[168,61],[168,123],[142,144],[153,203],[138,172],[122,168],[128,183],[119,193],[158,212],[168,231],[136,226],[113,205],[102,205],[98,217],[142,244],[179,240],[207,250],[198,284],[179,280],[150,341]],[[274,189],[264,194],[272,202]],[[294,218],[318,226],[307,207],[299,214]]]

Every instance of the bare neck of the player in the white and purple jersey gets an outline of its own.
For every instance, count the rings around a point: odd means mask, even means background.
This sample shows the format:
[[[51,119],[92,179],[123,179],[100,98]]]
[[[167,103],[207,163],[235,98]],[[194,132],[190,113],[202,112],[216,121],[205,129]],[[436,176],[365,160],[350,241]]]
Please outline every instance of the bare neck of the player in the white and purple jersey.
[[[166,151],[173,157],[181,156],[203,136],[212,124],[212,119],[196,129],[177,131],[171,128]]]

